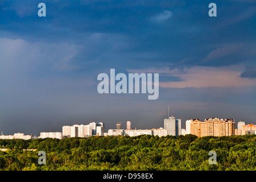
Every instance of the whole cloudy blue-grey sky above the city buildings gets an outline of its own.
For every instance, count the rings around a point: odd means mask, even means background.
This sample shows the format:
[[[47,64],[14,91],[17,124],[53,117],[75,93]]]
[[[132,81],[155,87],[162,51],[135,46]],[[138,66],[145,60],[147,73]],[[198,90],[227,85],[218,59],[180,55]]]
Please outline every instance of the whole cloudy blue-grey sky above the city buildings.
[[[153,129],[168,105],[184,129],[192,118],[256,124],[255,32],[254,0],[1,0],[0,131]],[[112,68],[159,73],[158,99],[99,94],[97,76]]]

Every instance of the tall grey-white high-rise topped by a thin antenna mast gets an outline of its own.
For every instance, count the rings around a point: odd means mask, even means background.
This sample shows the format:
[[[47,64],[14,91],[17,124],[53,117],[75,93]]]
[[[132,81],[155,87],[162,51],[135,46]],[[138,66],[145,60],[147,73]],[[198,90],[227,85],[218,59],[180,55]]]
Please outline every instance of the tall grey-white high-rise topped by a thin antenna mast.
[[[181,119],[175,119],[173,116],[164,119],[164,129],[167,130],[168,135],[181,135]]]

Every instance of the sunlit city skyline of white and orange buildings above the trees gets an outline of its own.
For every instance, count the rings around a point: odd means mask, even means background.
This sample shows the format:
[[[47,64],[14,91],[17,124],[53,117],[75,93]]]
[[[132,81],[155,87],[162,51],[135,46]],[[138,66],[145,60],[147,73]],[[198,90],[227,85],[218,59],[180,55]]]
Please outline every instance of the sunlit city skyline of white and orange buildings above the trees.
[[[65,139],[72,137],[87,138],[92,136],[118,136],[118,135],[128,135],[130,137],[135,137],[138,135],[158,135],[158,137],[166,137],[167,135],[172,135],[178,137],[179,135],[192,134],[196,137],[222,137],[222,136],[232,136],[232,135],[247,135],[256,134],[256,125],[248,124],[245,122],[238,122],[238,127],[235,129],[235,121],[233,118],[205,118],[204,121],[201,119],[189,119],[185,122],[185,129],[181,129],[180,119],[175,119],[171,116],[168,119],[164,119],[164,128],[159,129],[132,129],[131,122],[127,121],[127,129],[120,129],[117,125],[117,129],[109,129],[105,132],[105,124],[103,122],[96,123],[91,122],[88,125],[73,125],[73,126],[63,126],[62,132],[41,132],[40,136],[24,135],[24,133],[14,133],[14,135],[0,135],[1,139],[38,139],[38,138],[56,138]]]

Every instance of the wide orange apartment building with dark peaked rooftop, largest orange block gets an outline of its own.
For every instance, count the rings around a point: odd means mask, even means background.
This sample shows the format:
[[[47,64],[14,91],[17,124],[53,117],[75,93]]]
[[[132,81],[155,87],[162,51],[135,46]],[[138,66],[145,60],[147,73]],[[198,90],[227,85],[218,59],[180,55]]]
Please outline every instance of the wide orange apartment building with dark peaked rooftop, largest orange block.
[[[200,119],[191,119],[191,134],[197,137],[230,136],[235,134],[234,119],[208,118],[202,122]]]

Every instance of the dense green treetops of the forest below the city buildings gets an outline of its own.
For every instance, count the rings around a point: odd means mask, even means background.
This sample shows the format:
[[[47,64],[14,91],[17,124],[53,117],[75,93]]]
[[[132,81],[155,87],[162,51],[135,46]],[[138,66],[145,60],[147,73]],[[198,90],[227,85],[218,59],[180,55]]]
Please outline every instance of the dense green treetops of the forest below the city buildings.
[[[0,146],[10,148],[0,151],[1,170],[256,170],[256,135],[1,139]],[[208,162],[212,150],[216,165]]]

